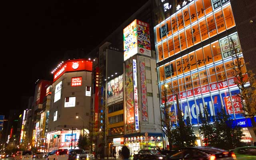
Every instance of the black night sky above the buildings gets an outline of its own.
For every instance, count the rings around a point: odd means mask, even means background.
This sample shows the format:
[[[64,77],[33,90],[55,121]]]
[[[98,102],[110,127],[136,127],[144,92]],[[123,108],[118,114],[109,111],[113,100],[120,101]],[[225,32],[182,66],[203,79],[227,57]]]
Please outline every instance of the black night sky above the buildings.
[[[37,79],[67,50],[88,53],[147,0],[23,0],[2,4],[2,104],[0,114],[21,107]],[[2,2],[1,2],[2,3]]]

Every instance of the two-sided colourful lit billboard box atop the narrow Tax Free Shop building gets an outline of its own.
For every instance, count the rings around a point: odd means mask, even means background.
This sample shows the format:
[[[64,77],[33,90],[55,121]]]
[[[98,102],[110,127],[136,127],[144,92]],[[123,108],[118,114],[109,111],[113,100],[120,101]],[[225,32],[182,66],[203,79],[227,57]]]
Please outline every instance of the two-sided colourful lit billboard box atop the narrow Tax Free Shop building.
[[[124,61],[135,54],[151,56],[149,24],[134,20],[123,30]]]

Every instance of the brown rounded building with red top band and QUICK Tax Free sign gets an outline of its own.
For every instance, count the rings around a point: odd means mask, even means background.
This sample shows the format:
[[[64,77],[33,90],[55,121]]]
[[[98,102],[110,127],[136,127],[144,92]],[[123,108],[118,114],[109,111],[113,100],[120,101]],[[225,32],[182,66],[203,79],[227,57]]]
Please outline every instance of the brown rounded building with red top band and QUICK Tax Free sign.
[[[90,128],[92,61],[67,60],[58,64],[52,74],[46,148],[48,152],[74,149],[80,134],[88,134]]]

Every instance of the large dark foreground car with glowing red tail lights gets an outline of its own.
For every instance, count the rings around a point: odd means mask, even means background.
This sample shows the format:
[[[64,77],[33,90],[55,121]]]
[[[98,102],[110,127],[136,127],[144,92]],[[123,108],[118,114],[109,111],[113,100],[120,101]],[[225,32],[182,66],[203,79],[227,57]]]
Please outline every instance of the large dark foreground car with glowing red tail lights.
[[[233,152],[215,147],[187,147],[176,154],[167,155],[164,160],[236,160]]]

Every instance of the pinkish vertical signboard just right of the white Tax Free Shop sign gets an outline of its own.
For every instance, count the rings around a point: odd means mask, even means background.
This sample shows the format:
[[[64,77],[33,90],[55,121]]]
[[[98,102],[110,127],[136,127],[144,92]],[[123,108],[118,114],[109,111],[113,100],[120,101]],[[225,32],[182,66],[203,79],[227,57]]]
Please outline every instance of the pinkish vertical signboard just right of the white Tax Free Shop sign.
[[[145,62],[140,62],[140,84],[141,84],[141,100],[142,100],[142,121],[148,122]]]

